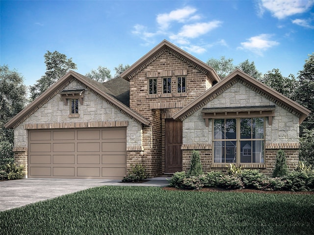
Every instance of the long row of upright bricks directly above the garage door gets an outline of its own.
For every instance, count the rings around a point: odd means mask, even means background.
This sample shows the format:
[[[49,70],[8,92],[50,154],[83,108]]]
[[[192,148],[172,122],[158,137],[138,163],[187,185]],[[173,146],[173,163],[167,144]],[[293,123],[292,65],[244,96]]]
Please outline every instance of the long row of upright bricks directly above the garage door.
[[[59,122],[25,124],[24,129],[65,129],[86,127],[120,127],[128,126],[129,121],[93,121],[93,122]]]

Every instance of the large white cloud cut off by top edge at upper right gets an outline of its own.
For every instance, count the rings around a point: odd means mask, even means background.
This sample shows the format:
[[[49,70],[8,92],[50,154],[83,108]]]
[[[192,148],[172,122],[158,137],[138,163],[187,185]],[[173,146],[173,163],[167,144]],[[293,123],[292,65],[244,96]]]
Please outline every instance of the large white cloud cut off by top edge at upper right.
[[[259,15],[268,10],[278,19],[284,19],[308,11],[314,5],[314,0],[261,0]]]

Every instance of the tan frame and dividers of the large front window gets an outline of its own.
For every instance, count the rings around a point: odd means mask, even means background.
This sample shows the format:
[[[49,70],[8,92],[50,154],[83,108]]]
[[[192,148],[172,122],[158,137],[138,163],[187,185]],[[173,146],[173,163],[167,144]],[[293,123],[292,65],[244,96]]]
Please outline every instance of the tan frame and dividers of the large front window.
[[[241,139],[241,133],[240,133],[240,120],[241,118],[263,118],[263,138],[256,138],[254,139],[252,136],[249,139]],[[215,119],[235,119],[235,123],[236,123],[236,136],[235,139],[226,139],[226,137],[224,137],[224,139],[214,139],[214,120]],[[225,118],[212,118],[212,167],[226,167],[229,164],[235,164],[236,166],[243,166],[243,167],[258,167],[258,168],[264,168],[266,166],[265,164],[265,146],[266,146],[266,138],[265,138],[265,125],[266,125],[266,118],[265,117],[225,117]],[[252,131],[252,130],[251,130]],[[252,132],[251,132],[252,134]],[[222,163],[217,163],[214,162],[215,161],[215,142],[219,142],[219,141],[224,141],[225,143],[227,141],[235,141],[235,148],[236,148],[236,161],[234,163],[230,163],[230,162],[222,162]],[[261,163],[253,163],[253,162],[243,162],[241,163],[241,141],[263,141],[263,145],[262,145],[262,152],[263,152],[263,162]],[[226,160],[226,154],[227,154],[227,148],[226,146],[224,146],[224,155],[225,155],[225,160]],[[252,158],[252,146],[250,149],[250,154],[249,155],[245,155],[244,154],[244,149],[243,149],[243,156],[251,156]]]

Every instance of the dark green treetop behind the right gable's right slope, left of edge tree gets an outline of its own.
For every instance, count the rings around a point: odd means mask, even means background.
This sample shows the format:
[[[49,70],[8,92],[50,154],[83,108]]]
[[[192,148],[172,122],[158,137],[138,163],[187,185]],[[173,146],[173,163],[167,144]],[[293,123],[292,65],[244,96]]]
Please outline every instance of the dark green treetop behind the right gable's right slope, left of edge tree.
[[[295,89],[299,86],[294,75],[290,74],[288,77],[284,77],[279,69],[266,72],[262,77],[262,82],[288,98],[293,97]]]

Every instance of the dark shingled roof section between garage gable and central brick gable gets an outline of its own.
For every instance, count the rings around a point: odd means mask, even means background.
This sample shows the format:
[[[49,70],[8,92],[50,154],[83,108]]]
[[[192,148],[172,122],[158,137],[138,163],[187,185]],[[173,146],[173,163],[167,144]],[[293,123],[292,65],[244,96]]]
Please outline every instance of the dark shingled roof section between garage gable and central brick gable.
[[[104,82],[103,86],[109,91],[108,94],[130,107],[130,83],[127,80],[116,77]]]

